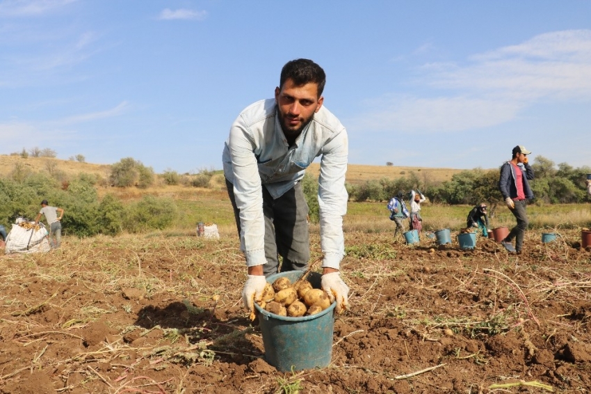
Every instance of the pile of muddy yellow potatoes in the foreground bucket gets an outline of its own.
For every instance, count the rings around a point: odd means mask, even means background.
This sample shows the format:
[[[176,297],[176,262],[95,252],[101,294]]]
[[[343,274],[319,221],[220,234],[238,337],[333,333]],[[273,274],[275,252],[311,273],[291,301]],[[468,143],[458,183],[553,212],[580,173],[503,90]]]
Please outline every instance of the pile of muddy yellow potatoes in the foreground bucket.
[[[314,289],[308,281],[296,281],[292,285],[282,276],[273,285],[267,283],[258,304],[275,315],[300,317],[322,312],[330,306],[330,299],[324,290]]]

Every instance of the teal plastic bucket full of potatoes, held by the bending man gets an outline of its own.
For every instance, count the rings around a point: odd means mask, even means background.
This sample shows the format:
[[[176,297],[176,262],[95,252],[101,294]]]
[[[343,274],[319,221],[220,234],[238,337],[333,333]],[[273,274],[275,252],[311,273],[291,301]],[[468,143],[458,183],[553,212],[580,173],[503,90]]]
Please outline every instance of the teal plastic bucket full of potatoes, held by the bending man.
[[[273,283],[286,276],[293,283],[303,274],[304,271],[282,272],[269,276],[267,282]],[[310,272],[307,278],[312,287],[318,289],[321,279],[322,275],[317,272]],[[266,361],[282,372],[324,368],[330,364],[335,306],[337,303],[333,302],[316,315],[285,317],[254,304],[259,313]]]

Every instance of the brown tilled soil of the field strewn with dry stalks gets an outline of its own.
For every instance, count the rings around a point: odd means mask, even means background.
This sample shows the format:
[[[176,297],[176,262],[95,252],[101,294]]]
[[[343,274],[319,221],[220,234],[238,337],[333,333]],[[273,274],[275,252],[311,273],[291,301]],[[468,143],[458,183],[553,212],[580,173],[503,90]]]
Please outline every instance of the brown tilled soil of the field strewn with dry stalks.
[[[591,252],[578,233],[541,244],[529,232],[522,255],[486,239],[462,251],[346,237],[350,310],[332,363],[294,373],[266,363],[241,309],[234,235],[2,255],[0,393],[589,392]]]

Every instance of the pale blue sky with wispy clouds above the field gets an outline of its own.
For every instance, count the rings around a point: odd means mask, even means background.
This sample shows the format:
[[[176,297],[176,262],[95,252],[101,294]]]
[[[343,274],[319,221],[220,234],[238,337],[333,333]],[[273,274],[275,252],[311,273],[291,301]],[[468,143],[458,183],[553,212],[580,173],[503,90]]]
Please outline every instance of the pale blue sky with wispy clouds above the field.
[[[0,154],[220,169],[293,58],[325,69],[351,164],[591,165],[582,0],[0,0]]]

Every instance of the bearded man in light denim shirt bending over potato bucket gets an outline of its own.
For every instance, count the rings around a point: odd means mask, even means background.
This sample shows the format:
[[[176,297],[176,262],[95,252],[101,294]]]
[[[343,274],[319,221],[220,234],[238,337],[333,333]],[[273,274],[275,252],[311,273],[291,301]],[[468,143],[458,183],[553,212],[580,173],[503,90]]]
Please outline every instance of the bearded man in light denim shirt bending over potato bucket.
[[[308,205],[301,181],[319,156],[321,286],[331,302],[336,299],[337,312],[348,306],[349,287],[339,274],[345,255],[348,137],[339,119],[323,107],[325,79],[324,70],[313,61],[289,61],[281,70],[275,97],[244,109],[224,145],[226,186],[248,267],[242,297],[251,317],[266,276],[278,269],[307,269]],[[278,255],[283,258],[281,267]]]

